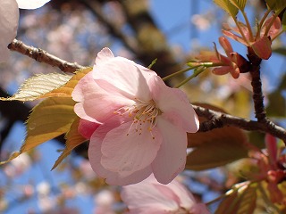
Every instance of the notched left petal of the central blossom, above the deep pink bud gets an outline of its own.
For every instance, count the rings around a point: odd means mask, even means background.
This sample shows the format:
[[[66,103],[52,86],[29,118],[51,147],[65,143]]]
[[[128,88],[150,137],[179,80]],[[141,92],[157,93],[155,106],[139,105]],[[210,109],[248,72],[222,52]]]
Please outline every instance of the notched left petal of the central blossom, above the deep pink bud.
[[[81,78],[72,94],[74,101],[80,102],[74,106],[75,113],[81,118],[91,122],[102,123],[114,115],[122,106],[130,106],[134,102],[117,95],[111,95],[97,85],[89,72]]]

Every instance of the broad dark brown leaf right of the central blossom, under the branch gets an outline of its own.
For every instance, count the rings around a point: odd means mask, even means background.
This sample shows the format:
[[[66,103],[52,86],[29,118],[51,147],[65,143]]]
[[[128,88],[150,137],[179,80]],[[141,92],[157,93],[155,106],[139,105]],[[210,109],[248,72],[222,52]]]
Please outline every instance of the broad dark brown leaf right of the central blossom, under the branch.
[[[213,105],[196,103],[214,111],[222,111]],[[205,121],[199,117],[199,121]],[[248,157],[245,146],[247,136],[240,128],[215,128],[208,132],[188,133],[188,147],[193,148],[187,157],[186,169],[203,170],[223,166]]]

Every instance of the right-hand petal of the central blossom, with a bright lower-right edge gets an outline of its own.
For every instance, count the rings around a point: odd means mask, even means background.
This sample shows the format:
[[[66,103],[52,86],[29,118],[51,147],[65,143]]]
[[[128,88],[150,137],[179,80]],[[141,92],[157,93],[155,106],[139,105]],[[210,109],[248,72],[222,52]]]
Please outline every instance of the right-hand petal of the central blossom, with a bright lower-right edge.
[[[174,125],[180,126],[187,132],[198,131],[198,116],[187,95],[178,88],[166,86],[157,76],[151,78],[148,84],[156,106]]]

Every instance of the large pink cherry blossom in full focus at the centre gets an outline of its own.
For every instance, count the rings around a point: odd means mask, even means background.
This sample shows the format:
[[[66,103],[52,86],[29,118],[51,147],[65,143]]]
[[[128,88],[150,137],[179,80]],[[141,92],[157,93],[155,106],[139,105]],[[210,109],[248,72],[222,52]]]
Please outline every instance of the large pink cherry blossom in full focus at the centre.
[[[186,132],[198,131],[198,116],[156,72],[104,48],[72,98],[79,131],[90,137],[91,167],[108,184],[138,183],[152,172],[168,184],[184,169]]]

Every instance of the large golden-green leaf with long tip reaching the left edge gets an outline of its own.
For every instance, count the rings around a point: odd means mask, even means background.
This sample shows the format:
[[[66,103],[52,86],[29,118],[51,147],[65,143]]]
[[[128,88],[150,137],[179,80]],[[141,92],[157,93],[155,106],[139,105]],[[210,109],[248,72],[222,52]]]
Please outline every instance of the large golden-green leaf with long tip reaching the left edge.
[[[76,118],[73,111],[75,102],[71,98],[51,97],[38,103],[27,120],[27,136],[20,152],[14,152],[3,164],[12,161],[22,152],[27,152],[50,139],[66,133]]]

